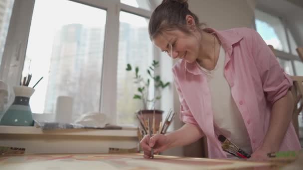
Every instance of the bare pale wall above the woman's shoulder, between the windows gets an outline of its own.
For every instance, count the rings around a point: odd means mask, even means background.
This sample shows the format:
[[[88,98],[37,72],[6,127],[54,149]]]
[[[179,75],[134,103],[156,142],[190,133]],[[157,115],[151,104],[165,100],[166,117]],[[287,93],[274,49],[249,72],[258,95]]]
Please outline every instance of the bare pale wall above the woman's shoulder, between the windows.
[[[200,22],[218,30],[254,25],[255,0],[189,0]]]

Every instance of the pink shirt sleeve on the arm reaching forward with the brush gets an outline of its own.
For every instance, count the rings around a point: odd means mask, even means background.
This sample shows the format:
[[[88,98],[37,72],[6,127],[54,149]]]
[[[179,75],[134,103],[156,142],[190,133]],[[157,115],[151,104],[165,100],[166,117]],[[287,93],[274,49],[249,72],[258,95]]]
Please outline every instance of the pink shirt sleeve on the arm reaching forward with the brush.
[[[179,100],[180,100],[180,114],[179,114],[180,120],[184,123],[190,123],[190,124],[194,124],[194,125],[198,126],[198,123],[196,122],[195,118],[192,116],[192,113],[191,113],[190,109],[188,108],[185,99],[183,98],[183,94],[180,89],[180,85],[179,85],[176,73],[174,70],[172,70],[172,72],[173,72],[173,77],[174,77],[174,85],[176,86],[176,90],[178,92],[178,96],[179,96]]]

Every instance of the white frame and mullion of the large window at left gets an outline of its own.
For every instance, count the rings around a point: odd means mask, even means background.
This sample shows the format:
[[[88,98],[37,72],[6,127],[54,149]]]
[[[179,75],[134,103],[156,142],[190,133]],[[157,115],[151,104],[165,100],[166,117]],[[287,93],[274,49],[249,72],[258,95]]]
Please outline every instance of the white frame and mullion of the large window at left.
[[[120,11],[150,18],[152,10],[155,8],[156,4],[154,0],[149,0],[151,10],[146,10],[121,3],[120,0],[70,1],[107,11],[99,111],[108,114],[108,118],[110,119],[109,123],[116,124],[117,60]],[[7,82],[8,85],[18,85],[18,78],[21,77],[22,74],[34,4],[35,0],[15,0],[13,4],[6,43],[3,51],[2,64],[0,66],[0,80]],[[159,52],[155,46],[153,46],[153,48],[154,59],[158,60]],[[12,64],[15,64],[15,67],[13,70],[10,70],[10,65]],[[12,75],[9,75],[9,73],[12,73]],[[46,116],[46,113],[44,114]],[[41,116],[43,116],[43,114]]]

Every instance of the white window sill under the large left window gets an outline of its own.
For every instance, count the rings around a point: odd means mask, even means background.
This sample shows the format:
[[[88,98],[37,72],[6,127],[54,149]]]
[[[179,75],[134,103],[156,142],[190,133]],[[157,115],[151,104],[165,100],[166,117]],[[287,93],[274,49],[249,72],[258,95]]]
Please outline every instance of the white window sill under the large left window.
[[[136,127],[123,127],[119,130],[110,129],[56,129],[45,130],[32,126],[0,126],[1,134],[13,135],[63,135],[63,136],[111,136],[137,137]]]

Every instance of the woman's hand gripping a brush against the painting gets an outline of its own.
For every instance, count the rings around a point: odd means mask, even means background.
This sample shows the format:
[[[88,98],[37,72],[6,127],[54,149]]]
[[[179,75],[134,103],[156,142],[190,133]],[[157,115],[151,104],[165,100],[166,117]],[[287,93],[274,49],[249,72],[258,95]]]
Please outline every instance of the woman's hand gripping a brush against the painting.
[[[151,151],[153,148],[153,153],[157,154],[166,150],[170,142],[168,137],[161,134],[156,134],[150,138],[149,135],[145,135],[144,138],[141,140],[140,145],[144,151],[144,158],[151,158]]]

